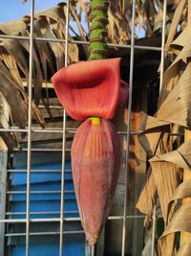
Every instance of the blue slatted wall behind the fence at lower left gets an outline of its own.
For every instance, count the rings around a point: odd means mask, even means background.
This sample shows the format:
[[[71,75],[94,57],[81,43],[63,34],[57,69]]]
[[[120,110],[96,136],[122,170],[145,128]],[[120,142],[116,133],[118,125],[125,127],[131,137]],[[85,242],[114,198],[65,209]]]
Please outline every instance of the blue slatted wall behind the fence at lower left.
[[[15,170],[26,169],[26,165],[16,165]],[[50,162],[33,164],[32,170],[61,170],[61,163]],[[71,163],[66,163],[66,170],[71,170]],[[25,173],[13,173],[11,175],[11,191],[26,192],[27,175]],[[60,211],[60,190],[61,174],[52,173],[32,173],[31,191],[50,191],[50,193],[31,194],[31,212],[55,212],[53,214],[31,214],[32,219],[59,218]],[[53,194],[51,191],[57,191]],[[74,196],[74,185],[72,173],[65,174],[65,195],[64,210],[68,213],[65,217],[78,217],[77,205]],[[26,194],[12,194],[9,197],[10,209],[14,213],[26,211]],[[12,215],[11,219],[25,219],[26,215]],[[10,233],[25,233],[25,223],[10,224]],[[65,222],[64,231],[82,230],[79,221]],[[32,222],[31,232],[59,232],[59,222]],[[8,238],[10,256],[25,256],[25,236],[15,236]],[[64,255],[84,256],[85,236],[84,234],[64,234]],[[31,256],[58,256],[59,255],[59,235],[40,235],[30,237]]]

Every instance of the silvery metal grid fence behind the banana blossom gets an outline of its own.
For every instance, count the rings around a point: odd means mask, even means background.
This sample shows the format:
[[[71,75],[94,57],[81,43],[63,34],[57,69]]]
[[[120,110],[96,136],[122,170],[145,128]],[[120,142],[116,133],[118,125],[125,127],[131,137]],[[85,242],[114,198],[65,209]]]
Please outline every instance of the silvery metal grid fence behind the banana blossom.
[[[44,234],[59,234],[59,256],[63,255],[63,240],[64,235],[66,233],[83,233],[83,231],[64,231],[64,222],[65,221],[79,221],[79,218],[65,218],[64,217],[64,190],[65,190],[65,173],[68,171],[65,170],[65,152],[66,152],[66,133],[72,132],[74,133],[74,129],[66,128],[66,112],[63,110],[63,128],[32,128],[32,51],[33,51],[33,41],[45,41],[45,42],[54,42],[54,43],[65,43],[65,66],[68,64],[68,45],[69,43],[75,43],[75,44],[89,44],[89,42],[86,41],[79,41],[79,40],[69,40],[69,22],[70,22],[70,0],[66,2],[67,4],[67,14],[66,14],[66,38],[65,39],[52,39],[52,38],[40,38],[40,37],[34,37],[33,36],[33,17],[34,17],[34,1],[31,0],[31,32],[30,36],[19,36],[19,35],[0,35],[1,40],[4,38],[10,38],[10,39],[16,39],[16,40],[29,40],[30,41],[30,68],[29,68],[29,119],[28,119],[28,127],[27,128],[0,128],[0,131],[13,131],[13,132],[27,132],[28,133],[28,147],[27,149],[24,149],[24,151],[27,151],[27,191],[26,192],[20,192],[26,193],[27,200],[26,200],[26,219],[5,219],[0,220],[0,222],[3,223],[26,223],[26,233],[19,233],[18,236],[26,236],[26,256],[29,256],[29,248],[30,248],[30,239],[33,235],[36,235],[34,232],[31,232],[30,224],[32,222],[58,222],[59,223],[59,231],[57,232],[38,232],[37,235],[44,235]],[[37,0],[36,0],[37,1]],[[127,121],[127,128],[126,132],[118,131],[119,134],[126,136],[126,142],[127,142],[127,151],[126,151],[126,173],[125,173],[125,186],[128,186],[128,177],[129,177],[129,143],[130,143],[130,137],[131,136],[137,136],[138,131],[130,132],[130,118],[131,118],[131,110],[132,110],[132,92],[133,92],[133,75],[134,75],[134,56],[135,56],[135,49],[140,50],[151,50],[151,51],[159,51],[161,52],[161,58],[160,58],[160,86],[162,84],[162,76],[163,76],[163,70],[164,70],[164,44],[165,44],[165,23],[166,23],[166,5],[167,1],[163,1],[163,25],[162,25],[162,36],[161,36],[161,47],[152,47],[152,46],[140,46],[135,44],[135,15],[136,15],[136,0],[133,0],[133,10],[132,10],[132,35],[131,35],[131,44],[130,45],[119,45],[114,43],[108,43],[108,47],[117,47],[117,48],[123,48],[123,49],[131,49],[131,55],[130,55],[130,78],[129,78],[129,102],[128,102],[128,121]],[[36,133],[62,133],[63,134],[63,140],[62,140],[62,168],[61,168],[61,191],[55,191],[54,193],[59,193],[61,196],[60,200],[60,214],[59,218],[53,218],[53,219],[32,219],[31,215],[34,214],[30,211],[30,198],[32,193],[39,193],[32,192],[31,191],[31,174],[34,173],[43,173],[43,172],[49,172],[47,170],[31,170],[31,158],[32,158],[32,151],[60,151],[59,149],[32,149],[32,132]],[[15,150],[16,151],[16,150]],[[20,172],[24,173],[24,170],[8,170],[8,172]],[[50,172],[60,172],[58,170],[52,170]],[[13,192],[7,192],[13,193]],[[43,191],[43,193],[45,193]],[[124,205],[123,205],[123,215],[122,216],[111,216],[109,217],[109,220],[121,220],[123,222],[123,228],[122,228],[122,244],[121,244],[121,256],[125,255],[125,244],[126,244],[126,222],[130,219],[143,219],[144,216],[139,215],[127,215],[127,190],[125,190],[124,195]],[[49,212],[51,213],[51,212]],[[55,213],[55,212],[53,212]],[[22,213],[21,213],[22,214]],[[39,214],[39,212],[38,212]],[[11,215],[11,213],[7,213],[7,216]],[[15,236],[16,234],[5,234],[5,236]],[[156,235],[156,207],[154,210],[153,215],[153,233],[152,233],[152,248],[151,248],[151,256],[154,256],[154,247],[155,247],[155,235]],[[95,256],[95,247],[92,247],[91,255]]]

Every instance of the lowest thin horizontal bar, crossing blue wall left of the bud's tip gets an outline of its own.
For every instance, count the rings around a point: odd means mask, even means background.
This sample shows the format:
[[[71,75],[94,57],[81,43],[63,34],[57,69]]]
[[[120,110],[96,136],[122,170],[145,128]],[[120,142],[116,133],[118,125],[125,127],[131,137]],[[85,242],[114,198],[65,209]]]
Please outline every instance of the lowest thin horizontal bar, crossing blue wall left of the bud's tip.
[[[30,236],[50,236],[50,235],[59,235],[60,232],[52,231],[52,232],[32,232]],[[83,230],[74,230],[74,231],[63,231],[63,234],[73,235],[73,234],[84,234]],[[26,233],[11,233],[5,234],[6,237],[21,237],[26,236]]]

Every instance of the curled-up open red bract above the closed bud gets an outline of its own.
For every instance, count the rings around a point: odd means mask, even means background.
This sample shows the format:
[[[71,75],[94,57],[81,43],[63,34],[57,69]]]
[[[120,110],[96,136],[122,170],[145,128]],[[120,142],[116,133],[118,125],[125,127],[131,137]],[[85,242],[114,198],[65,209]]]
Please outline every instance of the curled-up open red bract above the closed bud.
[[[53,76],[57,97],[71,117],[113,118],[120,98],[119,63],[120,58],[81,61]],[[123,95],[127,92],[128,88]]]

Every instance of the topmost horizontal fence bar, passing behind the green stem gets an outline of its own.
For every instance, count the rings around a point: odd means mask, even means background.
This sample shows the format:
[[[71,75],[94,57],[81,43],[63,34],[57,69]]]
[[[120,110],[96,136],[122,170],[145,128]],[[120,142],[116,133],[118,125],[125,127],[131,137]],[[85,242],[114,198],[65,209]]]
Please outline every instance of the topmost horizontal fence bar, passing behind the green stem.
[[[22,36],[22,35],[0,35],[0,39],[18,39],[18,40],[30,40],[29,36]],[[36,41],[44,41],[44,42],[54,42],[54,43],[66,43],[66,39],[53,39],[53,38],[44,38],[44,37],[33,37],[33,40]],[[82,45],[89,45],[89,41],[83,40],[68,40],[69,43],[74,44],[82,44]],[[108,47],[117,47],[123,49],[131,49],[130,44],[117,44],[117,43],[107,43]],[[161,51],[161,47],[155,46],[144,46],[144,45],[135,45],[135,49],[139,50],[148,50],[148,51]]]

